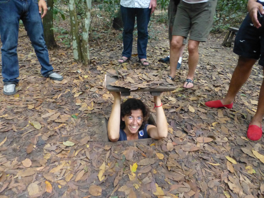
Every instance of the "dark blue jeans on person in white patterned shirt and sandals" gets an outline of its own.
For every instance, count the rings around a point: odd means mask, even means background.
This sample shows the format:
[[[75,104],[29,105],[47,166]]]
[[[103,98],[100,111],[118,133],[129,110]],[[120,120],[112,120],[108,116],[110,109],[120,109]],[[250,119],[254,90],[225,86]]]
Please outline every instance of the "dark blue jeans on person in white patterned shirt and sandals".
[[[0,0],[1,1],[1,0]],[[148,23],[150,20],[151,9],[149,8],[127,8],[121,6],[122,20],[124,23],[122,56],[131,57],[133,44],[133,31],[135,26],[135,17],[138,27],[138,58],[147,58],[148,44]]]

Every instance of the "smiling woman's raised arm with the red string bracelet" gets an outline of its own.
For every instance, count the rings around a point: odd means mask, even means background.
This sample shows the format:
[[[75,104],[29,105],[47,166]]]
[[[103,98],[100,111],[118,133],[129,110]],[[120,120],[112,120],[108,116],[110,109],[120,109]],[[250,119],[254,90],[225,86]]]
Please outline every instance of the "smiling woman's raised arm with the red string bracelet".
[[[162,104],[161,104],[161,98],[163,96],[163,93],[161,93],[161,95],[159,96],[154,96],[154,102],[155,102],[155,110],[157,113],[157,127],[153,126],[153,125],[148,125],[147,126],[147,131],[150,137],[154,138],[154,139],[162,139],[167,137],[168,135],[168,123],[167,123],[167,119],[166,116],[164,114],[163,108],[162,108]]]

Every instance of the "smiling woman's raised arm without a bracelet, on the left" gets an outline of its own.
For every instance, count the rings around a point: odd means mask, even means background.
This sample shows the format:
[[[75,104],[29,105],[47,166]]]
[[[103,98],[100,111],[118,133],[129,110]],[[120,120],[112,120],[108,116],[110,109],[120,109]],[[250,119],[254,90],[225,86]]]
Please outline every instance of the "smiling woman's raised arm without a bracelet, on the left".
[[[121,95],[120,92],[110,93],[114,96],[114,104],[109,117],[107,131],[110,141],[116,142],[119,139]]]

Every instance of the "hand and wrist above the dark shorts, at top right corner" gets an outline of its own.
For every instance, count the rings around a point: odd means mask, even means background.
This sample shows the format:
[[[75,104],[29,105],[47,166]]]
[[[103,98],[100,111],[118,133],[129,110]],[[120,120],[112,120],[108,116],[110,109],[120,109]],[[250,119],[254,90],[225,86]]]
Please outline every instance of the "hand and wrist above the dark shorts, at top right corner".
[[[261,24],[258,21],[258,11],[261,13],[261,15],[264,14],[262,4],[257,3],[257,0],[248,0],[247,8],[248,8],[249,16],[250,16],[254,26],[256,28],[261,27]]]

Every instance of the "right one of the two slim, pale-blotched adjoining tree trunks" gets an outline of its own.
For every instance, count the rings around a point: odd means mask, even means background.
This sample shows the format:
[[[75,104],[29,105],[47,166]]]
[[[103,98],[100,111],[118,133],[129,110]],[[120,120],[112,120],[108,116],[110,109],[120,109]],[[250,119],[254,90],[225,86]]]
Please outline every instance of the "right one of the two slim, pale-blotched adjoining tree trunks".
[[[90,64],[90,56],[89,56],[89,27],[90,27],[90,18],[91,18],[91,2],[92,0],[86,0],[84,2],[85,7],[85,14],[84,14],[84,20],[83,20],[83,40],[82,40],[82,58],[83,58],[83,65],[88,66]]]

